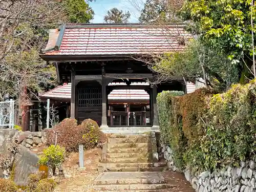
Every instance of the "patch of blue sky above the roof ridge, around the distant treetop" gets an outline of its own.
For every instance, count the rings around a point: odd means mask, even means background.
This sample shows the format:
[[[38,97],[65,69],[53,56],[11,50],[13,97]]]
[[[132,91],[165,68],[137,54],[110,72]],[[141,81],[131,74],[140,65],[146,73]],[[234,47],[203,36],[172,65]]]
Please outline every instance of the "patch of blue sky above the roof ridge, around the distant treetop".
[[[103,23],[103,17],[106,12],[116,7],[123,11],[130,11],[130,23],[137,23],[140,15],[139,10],[143,8],[144,5],[143,2],[145,2],[145,0],[96,0],[96,2],[90,2],[89,4],[95,13],[92,22]]]

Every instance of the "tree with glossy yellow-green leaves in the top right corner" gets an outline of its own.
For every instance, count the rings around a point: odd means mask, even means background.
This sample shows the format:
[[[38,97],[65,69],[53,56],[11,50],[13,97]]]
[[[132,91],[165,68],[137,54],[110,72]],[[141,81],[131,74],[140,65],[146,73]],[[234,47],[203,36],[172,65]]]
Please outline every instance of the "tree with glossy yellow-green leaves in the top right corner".
[[[193,21],[187,29],[200,34],[200,40],[217,53],[226,54],[233,68],[239,70],[240,82],[246,80],[244,75],[249,77],[252,66],[251,14],[255,23],[256,8],[253,5],[251,12],[248,0],[185,1],[181,10],[185,20]]]

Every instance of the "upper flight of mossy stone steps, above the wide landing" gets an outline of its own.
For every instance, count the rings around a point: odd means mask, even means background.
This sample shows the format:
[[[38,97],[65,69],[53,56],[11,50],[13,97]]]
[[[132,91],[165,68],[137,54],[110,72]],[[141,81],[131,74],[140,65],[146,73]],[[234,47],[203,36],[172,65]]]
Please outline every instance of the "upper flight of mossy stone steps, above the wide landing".
[[[160,172],[155,132],[140,135],[107,134],[99,172]]]

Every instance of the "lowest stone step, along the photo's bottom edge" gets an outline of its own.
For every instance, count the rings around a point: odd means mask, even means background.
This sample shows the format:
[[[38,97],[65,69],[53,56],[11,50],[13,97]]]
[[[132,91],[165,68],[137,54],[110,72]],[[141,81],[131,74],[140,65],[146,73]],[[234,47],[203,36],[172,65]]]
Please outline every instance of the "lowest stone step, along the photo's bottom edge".
[[[123,184],[123,185],[94,185],[93,188],[100,191],[105,190],[158,190],[158,189],[167,189],[170,186],[167,184]]]

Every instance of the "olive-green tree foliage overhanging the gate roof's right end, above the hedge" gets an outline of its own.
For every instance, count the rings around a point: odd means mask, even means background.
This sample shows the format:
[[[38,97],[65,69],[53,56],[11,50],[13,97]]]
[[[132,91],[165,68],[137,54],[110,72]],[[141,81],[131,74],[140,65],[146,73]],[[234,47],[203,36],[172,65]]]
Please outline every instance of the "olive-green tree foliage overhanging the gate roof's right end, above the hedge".
[[[165,76],[183,76],[189,81],[204,78],[205,73],[207,85],[219,90],[227,90],[239,81],[239,71],[225,54],[217,54],[198,40],[190,40],[186,46],[183,52],[159,56],[153,70]]]

